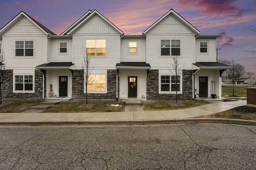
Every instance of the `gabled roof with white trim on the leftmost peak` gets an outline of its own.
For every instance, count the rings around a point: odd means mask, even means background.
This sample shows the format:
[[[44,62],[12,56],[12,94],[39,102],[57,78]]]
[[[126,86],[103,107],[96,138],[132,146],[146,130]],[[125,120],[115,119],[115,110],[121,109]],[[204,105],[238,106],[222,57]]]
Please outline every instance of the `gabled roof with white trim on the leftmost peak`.
[[[0,35],[2,35],[4,32],[6,32],[10,27],[12,27],[15,23],[17,23],[20,19],[23,17],[28,18],[32,23],[34,23],[39,29],[41,29],[45,34],[50,34],[50,35],[56,35],[53,33],[50,29],[46,28],[44,25],[36,21],[34,18],[26,14],[25,12],[21,11],[18,15],[16,15],[10,22],[8,22],[2,29],[0,29]]]

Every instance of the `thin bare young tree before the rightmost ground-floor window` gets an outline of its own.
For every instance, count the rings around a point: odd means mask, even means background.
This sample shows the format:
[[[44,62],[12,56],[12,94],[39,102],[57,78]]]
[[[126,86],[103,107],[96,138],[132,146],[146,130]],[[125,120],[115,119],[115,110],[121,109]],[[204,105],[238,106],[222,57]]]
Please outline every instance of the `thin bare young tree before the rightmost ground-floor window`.
[[[185,63],[183,64],[182,67],[180,67],[180,60],[178,58],[178,56],[173,56],[172,57],[173,60],[173,64],[172,66],[169,68],[168,70],[172,73],[175,74],[175,90],[176,90],[176,103],[178,103],[178,89],[180,90],[180,88],[178,88],[178,84],[180,84],[180,76],[182,75],[182,72],[184,70],[185,67]],[[172,76],[171,76],[171,81],[172,81]],[[172,86],[171,86],[172,89]]]

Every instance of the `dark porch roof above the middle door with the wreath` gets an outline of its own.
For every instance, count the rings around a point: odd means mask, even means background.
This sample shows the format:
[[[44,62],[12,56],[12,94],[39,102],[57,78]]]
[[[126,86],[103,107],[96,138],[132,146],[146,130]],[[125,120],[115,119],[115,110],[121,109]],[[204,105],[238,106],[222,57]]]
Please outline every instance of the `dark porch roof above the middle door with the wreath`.
[[[120,62],[116,64],[116,68],[150,69],[151,66],[146,62]]]

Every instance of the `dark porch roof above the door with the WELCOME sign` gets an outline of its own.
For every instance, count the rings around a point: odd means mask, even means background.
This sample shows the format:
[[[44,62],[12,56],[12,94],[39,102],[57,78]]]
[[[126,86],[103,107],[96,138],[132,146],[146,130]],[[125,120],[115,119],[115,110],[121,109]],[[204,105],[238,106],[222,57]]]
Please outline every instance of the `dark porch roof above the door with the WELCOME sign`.
[[[230,69],[232,66],[219,63],[219,62],[196,62],[193,63],[196,67],[195,69],[202,68],[202,69],[215,69],[215,70],[225,70]]]

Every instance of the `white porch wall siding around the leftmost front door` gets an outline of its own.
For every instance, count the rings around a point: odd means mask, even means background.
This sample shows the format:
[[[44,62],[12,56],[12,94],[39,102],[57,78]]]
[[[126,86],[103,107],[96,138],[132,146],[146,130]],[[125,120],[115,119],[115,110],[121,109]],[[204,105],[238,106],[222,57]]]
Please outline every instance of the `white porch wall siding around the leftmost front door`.
[[[68,76],[68,97],[72,97],[72,73],[70,70],[46,70],[46,96],[50,93],[52,84],[53,95],[59,96],[59,76]]]

